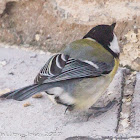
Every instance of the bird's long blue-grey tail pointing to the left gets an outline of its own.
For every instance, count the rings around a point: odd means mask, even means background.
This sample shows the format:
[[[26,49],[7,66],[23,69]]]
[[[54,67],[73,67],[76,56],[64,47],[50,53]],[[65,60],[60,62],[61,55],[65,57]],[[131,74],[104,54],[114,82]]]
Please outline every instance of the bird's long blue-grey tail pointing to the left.
[[[0,98],[23,101],[25,99],[28,99],[32,95],[38,92],[46,91],[47,89],[48,89],[48,84],[42,84],[42,85],[33,84],[24,88],[14,90],[12,92],[5,93],[1,95]]]

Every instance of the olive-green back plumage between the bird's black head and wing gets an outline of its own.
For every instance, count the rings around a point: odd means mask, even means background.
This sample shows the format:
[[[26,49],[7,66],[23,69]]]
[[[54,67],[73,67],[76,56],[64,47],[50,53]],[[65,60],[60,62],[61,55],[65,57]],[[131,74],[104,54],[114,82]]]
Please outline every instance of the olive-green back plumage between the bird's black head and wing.
[[[75,59],[99,62],[111,62],[113,60],[113,56],[101,44],[88,38],[70,43],[62,52]]]

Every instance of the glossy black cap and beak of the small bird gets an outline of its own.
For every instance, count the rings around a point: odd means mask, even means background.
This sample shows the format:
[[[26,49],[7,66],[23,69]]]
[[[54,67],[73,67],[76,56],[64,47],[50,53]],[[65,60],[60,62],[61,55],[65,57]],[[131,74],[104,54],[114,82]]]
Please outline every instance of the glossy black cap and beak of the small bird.
[[[104,48],[109,50],[110,43],[114,38],[114,28],[116,23],[112,25],[98,25],[92,28],[83,38],[91,38],[100,43]],[[109,50],[112,51],[112,50]],[[113,53],[113,51],[111,52]]]

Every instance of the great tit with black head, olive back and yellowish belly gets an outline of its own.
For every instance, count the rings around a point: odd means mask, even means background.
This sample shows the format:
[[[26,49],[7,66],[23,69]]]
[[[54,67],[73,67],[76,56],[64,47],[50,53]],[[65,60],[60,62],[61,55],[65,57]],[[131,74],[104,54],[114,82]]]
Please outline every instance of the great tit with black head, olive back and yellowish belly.
[[[119,66],[120,48],[114,34],[116,23],[98,25],[82,39],[66,45],[40,70],[34,84],[0,98],[23,101],[45,91],[68,110],[90,108],[105,92]]]

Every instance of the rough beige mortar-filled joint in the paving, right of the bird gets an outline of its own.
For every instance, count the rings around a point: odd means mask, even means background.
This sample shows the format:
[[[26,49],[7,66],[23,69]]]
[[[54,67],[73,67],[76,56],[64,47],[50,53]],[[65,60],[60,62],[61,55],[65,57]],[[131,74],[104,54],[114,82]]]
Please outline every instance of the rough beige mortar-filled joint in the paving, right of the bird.
[[[126,132],[131,126],[131,103],[135,88],[135,73],[129,72],[124,75],[122,94],[118,113],[117,133]]]

